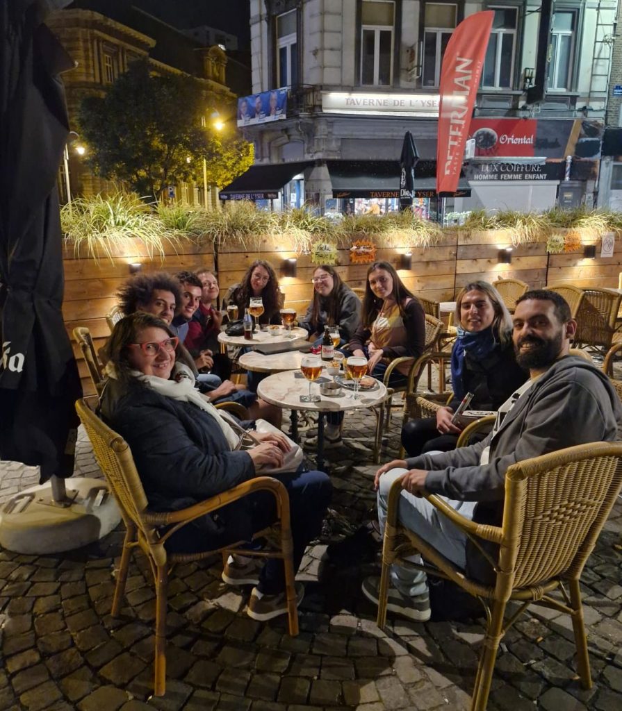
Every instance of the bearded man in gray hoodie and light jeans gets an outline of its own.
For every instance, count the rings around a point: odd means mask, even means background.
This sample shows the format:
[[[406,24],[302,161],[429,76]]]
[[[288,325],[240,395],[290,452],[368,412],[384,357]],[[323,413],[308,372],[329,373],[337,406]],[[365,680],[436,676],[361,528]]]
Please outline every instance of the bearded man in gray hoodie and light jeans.
[[[508,466],[576,444],[622,439],[622,406],[608,378],[586,359],[569,355],[576,321],[562,296],[544,289],[527,292],[512,321],[517,363],[530,378],[500,407],[486,439],[454,451],[394,459],[374,480],[381,530],[391,484],[401,478],[400,522],[483,582],[492,576],[485,558],[420,494],[439,494],[465,518],[500,525]],[[377,604],[378,592],[379,578],[363,582],[371,602]],[[429,619],[425,574],[394,565],[387,609]]]

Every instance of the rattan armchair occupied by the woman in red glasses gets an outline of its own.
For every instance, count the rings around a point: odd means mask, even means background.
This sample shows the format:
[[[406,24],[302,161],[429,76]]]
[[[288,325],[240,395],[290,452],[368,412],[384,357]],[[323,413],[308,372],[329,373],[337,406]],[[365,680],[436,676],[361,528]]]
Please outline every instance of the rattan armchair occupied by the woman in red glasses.
[[[257,491],[269,491],[276,499],[278,524],[270,529],[268,536],[273,542],[268,550],[243,550],[243,555],[262,558],[280,558],[285,565],[285,582],[288,599],[289,630],[292,636],[298,634],[298,613],[294,587],[294,570],[292,565],[292,535],[290,530],[290,500],[283,483],[269,476],[258,476],[251,481],[245,481],[238,486],[223,491],[218,496],[201,501],[194,506],[178,511],[159,513],[151,511],[147,505],[142,482],[140,481],[132,452],[119,434],[107,427],[97,415],[90,410],[85,400],[78,400],[75,409],[82,421],[88,437],[93,444],[97,464],[102,469],[110,491],[119,505],[125,522],[125,541],[121,555],[120,568],[117,572],[115,597],[112,600],[112,616],[118,616],[122,597],[125,592],[127,571],[130,566],[132,549],[140,548],[149,560],[154,577],[156,592],[155,621],[155,663],[154,663],[154,695],[163,696],[166,691],[166,621],[167,621],[167,583],[169,571],[175,563],[201,560],[222,552],[223,560],[231,552],[240,550],[243,542],[231,545],[225,549],[209,550],[194,554],[169,553],[164,543],[170,536],[192,520],[206,513],[216,511],[233,501],[248,496]],[[163,527],[169,528],[164,532]],[[265,531],[256,535],[265,535]]]

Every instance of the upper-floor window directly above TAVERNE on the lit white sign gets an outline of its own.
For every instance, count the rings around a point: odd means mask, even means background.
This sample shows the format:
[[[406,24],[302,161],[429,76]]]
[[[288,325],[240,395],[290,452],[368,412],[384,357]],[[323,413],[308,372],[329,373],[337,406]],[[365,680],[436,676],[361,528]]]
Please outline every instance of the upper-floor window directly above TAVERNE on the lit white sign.
[[[361,83],[389,86],[393,77],[395,3],[367,1],[361,11]]]

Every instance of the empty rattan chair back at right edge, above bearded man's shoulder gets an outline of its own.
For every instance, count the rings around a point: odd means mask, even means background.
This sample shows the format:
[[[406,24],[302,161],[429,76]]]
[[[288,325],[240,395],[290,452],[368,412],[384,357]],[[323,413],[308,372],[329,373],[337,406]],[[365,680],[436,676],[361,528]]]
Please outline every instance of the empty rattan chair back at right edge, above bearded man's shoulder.
[[[611,348],[622,294],[609,289],[584,289],[576,314],[574,343],[591,346],[602,355]]]

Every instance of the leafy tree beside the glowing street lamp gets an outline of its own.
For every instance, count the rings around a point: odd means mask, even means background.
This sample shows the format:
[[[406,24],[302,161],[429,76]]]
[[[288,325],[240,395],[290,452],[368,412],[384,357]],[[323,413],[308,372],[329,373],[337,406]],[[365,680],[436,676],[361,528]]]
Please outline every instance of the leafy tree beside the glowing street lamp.
[[[90,166],[141,196],[157,197],[176,181],[201,184],[206,159],[208,183],[222,188],[253,163],[253,146],[201,127],[201,116],[217,101],[193,77],[152,75],[146,61],[132,63],[104,96],[85,97],[80,106]]]

